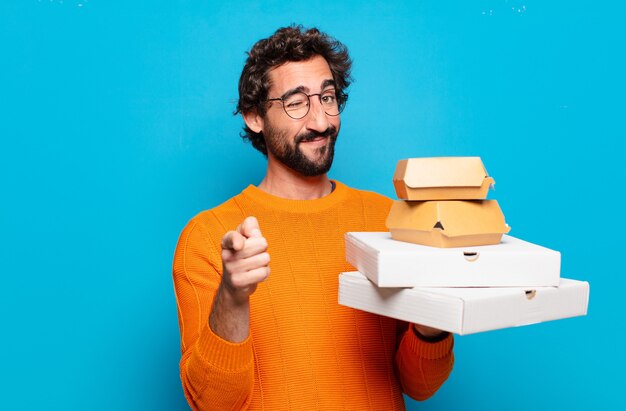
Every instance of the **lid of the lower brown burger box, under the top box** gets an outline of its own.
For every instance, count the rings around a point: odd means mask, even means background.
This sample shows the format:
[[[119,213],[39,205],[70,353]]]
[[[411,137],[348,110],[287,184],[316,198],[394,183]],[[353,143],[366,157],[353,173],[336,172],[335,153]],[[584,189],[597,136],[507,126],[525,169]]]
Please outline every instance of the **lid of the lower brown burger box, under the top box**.
[[[496,200],[403,201],[396,200],[387,216],[387,228],[440,230],[447,237],[506,234],[511,228]]]

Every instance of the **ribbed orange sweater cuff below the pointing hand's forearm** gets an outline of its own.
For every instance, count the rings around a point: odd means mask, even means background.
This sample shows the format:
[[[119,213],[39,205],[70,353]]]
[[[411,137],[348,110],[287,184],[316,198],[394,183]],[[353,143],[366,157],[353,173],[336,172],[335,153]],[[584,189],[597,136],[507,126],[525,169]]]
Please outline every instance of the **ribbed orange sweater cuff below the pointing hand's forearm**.
[[[228,372],[241,371],[254,360],[250,336],[240,343],[232,343],[220,338],[208,324],[200,333],[197,348],[198,354],[206,362]]]

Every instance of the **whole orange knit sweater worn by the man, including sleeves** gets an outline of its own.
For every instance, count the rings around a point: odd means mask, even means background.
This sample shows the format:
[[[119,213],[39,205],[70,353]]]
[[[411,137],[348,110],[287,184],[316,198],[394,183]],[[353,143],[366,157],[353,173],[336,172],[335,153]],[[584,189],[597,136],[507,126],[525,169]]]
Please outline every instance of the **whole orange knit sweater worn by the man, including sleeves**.
[[[452,370],[452,336],[420,340],[408,324],[340,306],[344,233],[386,231],[391,200],[348,188],[286,200],[249,186],[194,217],[174,257],[181,379],[196,410],[403,410],[402,392],[431,396]],[[251,297],[250,336],[227,342],[208,326],[222,274],[220,241],[259,220],[271,273]]]

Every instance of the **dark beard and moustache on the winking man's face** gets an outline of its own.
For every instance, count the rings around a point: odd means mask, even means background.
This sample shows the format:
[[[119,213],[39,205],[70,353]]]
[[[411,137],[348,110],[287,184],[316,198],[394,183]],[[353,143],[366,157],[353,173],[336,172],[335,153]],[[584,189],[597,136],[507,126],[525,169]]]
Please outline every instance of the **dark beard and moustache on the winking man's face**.
[[[265,143],[268,153],[272,153],[281,163],[303,176],[314,177],[328,173],[328,170],[333,165],[335,142],[338,134],[337,128],[330,126],[322,133],[311,131],[300,134],[295,138],[294,144],[291,145],[285,133],[268,126]],[[317,137],[328,137],[328,143],[316,150],[319,160],[312,161],[300,150],[300,144]]]

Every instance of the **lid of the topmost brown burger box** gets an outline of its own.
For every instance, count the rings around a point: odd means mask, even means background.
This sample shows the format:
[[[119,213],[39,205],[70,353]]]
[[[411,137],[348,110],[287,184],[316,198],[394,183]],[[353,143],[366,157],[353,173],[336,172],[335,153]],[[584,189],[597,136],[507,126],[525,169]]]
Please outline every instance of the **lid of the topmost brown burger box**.
[[[400,160],[393,177],[411,188],[480,187],[489,177],[480,157],[424,157]]]

